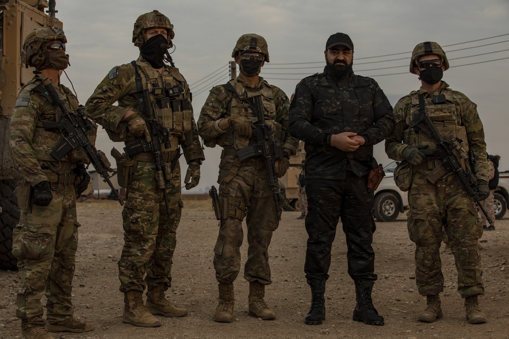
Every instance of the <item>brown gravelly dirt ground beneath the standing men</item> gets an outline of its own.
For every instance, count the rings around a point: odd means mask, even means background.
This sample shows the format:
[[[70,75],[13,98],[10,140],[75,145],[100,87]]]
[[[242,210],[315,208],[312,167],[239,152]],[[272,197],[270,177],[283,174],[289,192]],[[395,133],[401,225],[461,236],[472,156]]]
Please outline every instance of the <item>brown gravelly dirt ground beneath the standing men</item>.
[[[116,201],[88,200],[78,203],[79,244],[76,256],[73,303],[75,314],[95,325],[93,332],[53,333],[55,338],[509,338],[509,220],[498,220],[496,231],[481,239],[486,294],[480,305],[488,323],[465,321],[463,300],[456,291],[453,256],[442,254],[445,290],[444,317],[435,323],[419,323],[416,315],[426,298],[415,287],[413,252],[405,217],[377,223],[374,237],[376,273],[373,299],[385,326],[352,321],[354,284],[347,274],[346,244],[338,232],[332,249],[330,279],[326,286],[327,320],[319,326],[304,324],[310,292],[303,273],[306,232],[298,212],[284,212],[269,249],[273,283],[266,301],[277,319],[263,321],[247,314],[248,283],[235,283],[236,321],[216,323],[217,283],[212,265],[217,221],[208,201],[185,201],[178,229],[169,297],[189,314],[183,318],[159,317],[159,328],[139,328],[121,321],[123,295],[119,292],[117,261],[122,245],[121,207]],[[341,227],[338,227],[341,230]],[[245,260],[246,242],[242,245]],[[244,261],[243,261],[244,262]],[[20,338],[15,317],[17,272],[0,271],[0,338]],[[45,301],[43,301],[45,302]]]

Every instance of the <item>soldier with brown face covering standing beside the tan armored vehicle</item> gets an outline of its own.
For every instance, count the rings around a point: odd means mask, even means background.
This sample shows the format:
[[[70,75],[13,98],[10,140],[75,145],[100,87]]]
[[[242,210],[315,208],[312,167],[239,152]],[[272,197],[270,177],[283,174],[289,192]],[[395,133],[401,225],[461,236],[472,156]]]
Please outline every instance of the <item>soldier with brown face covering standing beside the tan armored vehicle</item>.
[[[84,167],[89,162],[81,147],[56,161],[50,152],[63,140],[58,130],[46,130],[43,121],[60,121],[62,111],[45,94],[48,78],[70,111],[78,100],[60,83],[59,72],[67,68],[67,42],[58,27],[44,27],[26,36],[22,60],[36,74],[21,89],[12,113],[11,147],[19,172],[16,189],[21,208],[13,231],[12,252],[18,258],[19,288],[16,316],[22,336],[51,339],[50,332],[88,332],[89,323],[73,316],[71,302],[75,253],[78,242],[76,195],[90,182]],[[95,135],[90,134],[91,141]],[[41,297],[46,292],[46,320]],[[46,324],[46,321],[48,324]]]

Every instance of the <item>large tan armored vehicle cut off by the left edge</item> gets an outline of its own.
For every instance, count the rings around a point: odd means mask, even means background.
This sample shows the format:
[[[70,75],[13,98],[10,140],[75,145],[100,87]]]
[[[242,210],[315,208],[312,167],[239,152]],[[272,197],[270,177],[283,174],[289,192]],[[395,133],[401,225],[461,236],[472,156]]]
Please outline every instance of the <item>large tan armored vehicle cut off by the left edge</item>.
[[[20,52],[27,34],[43,26],[62,27],[55,16],[55,1],[0,0],[0,269],[16,269],[11,253],[12,230],[19,220],[12,176],[9,123],[14,103],[24,83],[34,76],[25,68]]]

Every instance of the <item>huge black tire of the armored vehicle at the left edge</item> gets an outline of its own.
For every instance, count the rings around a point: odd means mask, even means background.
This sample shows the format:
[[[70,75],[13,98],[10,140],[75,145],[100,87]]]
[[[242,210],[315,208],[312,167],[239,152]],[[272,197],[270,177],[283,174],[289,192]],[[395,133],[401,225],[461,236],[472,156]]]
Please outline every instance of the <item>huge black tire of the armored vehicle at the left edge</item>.
[[[18,260],[12,255],[12,230],[19,222],[20,210],[14,194],[13,179],[0,180],[0,269],[16,270]]]

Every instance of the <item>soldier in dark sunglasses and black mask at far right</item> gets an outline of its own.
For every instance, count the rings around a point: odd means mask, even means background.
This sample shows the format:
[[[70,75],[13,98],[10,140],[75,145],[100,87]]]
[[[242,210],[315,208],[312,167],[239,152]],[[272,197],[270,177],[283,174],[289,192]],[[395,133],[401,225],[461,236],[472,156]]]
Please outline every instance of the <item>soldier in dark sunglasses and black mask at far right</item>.
[[[467,320],[479,324],[486,322],[486,315],[477,302],[477,296],[484,294],[478,248],[483,226],[477,218],[475,202],[455,173],[441,171],[437,159],[426,157],[427,149],[436,148],[435,139],[412,127],[419,114],[419,100],[423,100],[425,114],[444,140],[463,139],[461,147],[465,152],[458,147],[461,164],[475,173],[479,199],[489,195],[483,123],[476,105],[441,81],[448,68],[445,52],[437,43],[415,46],[410,73],[419,76],[421,87],[394,106],[396,128],[385,140],[385,151],[389,158],[401,161],[394,180],[400,189],[408,190],[408,233],[416,246],[415,282],[428,303],[418,320],[434,322],[443,316],[439,296],[444,285],[439,253],[443,227],[458,269],[458,291],[465,298]],[[473,168],[466,155],[469,151],[476,159]]]

